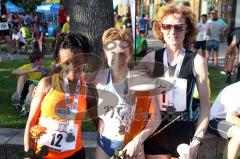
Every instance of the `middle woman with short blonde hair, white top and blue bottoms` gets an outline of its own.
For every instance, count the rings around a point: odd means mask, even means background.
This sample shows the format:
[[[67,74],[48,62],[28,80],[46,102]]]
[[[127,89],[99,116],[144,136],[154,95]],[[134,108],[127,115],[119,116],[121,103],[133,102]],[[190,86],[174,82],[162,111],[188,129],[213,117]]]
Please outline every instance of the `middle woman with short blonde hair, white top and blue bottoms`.
[[[102,41],[109,68],[100,70],[94,81],[100,119],[95,158],[109,159],[116,150],[120,150],[126,158],[143,159],[143,142],[157,129],[160,120],[153,120],[154,116],[148,121],[144,120],[147,123],[140,132],[125,142],[131,122],[135,119],[129,116],[134,111],[130,94],[132,71],[128,69],[133,51],[132,35],[122,29],[109,28],[104,32]],[[148,105],[144,102],[141,104],[142,107]],[[136,113],[140,115],[141,112]]]

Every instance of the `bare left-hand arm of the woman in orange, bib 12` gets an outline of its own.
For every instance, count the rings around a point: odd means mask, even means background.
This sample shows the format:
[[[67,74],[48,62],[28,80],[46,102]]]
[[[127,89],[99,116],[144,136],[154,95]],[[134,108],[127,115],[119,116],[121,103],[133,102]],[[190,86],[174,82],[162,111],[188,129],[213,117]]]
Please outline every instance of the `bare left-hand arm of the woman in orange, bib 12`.
[[[24,150],[27,151],[30,147],[30,129],[38,123],[38,117],[40,116],[41,103],[50,89],[49,77],[41,79],[39,82],[35,95],[31,102],[30,113],[28,116],[27,124],[24,133]]]

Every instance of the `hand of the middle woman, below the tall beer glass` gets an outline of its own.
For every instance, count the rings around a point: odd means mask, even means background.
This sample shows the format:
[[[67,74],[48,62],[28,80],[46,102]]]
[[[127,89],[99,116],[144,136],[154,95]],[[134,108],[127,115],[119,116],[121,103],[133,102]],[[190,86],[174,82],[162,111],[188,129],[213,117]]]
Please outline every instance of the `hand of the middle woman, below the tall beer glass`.
[[[138,159],[138,155],[141,154],[142,143],[140,142],[139,137],[135,137],[132,141],[130,141],[122,151],[120,151],[120,155],[124,154],[126,158]]]

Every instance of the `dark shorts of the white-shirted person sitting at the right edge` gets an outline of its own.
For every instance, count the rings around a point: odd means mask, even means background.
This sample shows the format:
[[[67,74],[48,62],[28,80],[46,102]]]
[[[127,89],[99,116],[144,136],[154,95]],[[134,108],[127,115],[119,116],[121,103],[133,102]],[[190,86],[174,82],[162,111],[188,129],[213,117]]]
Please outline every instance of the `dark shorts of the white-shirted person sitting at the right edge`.
[[[233,124],[226,122],[225,119],[215,118],[209,121],[208,132],[228,139],[227,132],[232,126]]]

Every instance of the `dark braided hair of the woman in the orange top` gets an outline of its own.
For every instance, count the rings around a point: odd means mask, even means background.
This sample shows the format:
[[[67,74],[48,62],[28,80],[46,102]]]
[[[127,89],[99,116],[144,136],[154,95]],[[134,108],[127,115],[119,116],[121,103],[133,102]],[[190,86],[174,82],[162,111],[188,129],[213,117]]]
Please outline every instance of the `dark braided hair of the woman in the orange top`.
[[[90,53],[91,46],[86,36],[80,33],[60,33],[53,40],[50,52],[53,53],[55,62],[59,61],[60,49],[81,49],[83,53]]]

